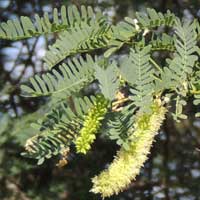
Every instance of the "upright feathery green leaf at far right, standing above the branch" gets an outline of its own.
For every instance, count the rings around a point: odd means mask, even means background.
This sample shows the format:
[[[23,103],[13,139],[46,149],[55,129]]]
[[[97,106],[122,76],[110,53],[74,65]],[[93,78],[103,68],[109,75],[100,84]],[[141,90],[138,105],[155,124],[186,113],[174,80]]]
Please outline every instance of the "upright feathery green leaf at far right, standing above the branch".
[[[189,76],[198,57],[197,34],[195,24],[191,22],[181,23],[176,20],[175,25],[175,53],[173,59],[168,59],[168,66],[161,73],[162,88],[182,90],[187,84]],[[161,86],[161,85],[160,85]],[[181,89],[180,89],[181,88]]]

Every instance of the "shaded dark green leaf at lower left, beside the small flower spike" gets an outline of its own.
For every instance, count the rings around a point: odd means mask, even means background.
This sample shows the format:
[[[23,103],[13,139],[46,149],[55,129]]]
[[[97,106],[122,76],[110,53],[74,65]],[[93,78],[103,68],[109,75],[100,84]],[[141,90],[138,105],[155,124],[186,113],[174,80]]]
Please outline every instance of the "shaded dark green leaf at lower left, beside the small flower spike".
[[[73,102],[73,106],[69,106]],[[94,106],[96,97],[71,98],[57,104],[43,118],[40,118],[34,127],[38,133],[29,138],[25,144],[24,156],[38,159],[42,164],[45,159],[61,153],[63,148],[69,147],[79,134],[84,116]]]

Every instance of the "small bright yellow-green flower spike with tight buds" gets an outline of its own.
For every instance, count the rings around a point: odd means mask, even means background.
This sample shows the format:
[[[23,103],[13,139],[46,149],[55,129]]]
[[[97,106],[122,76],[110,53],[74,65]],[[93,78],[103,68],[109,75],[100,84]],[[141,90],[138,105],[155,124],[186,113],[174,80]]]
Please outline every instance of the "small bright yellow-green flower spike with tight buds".
[[[93,107],[85,117],[83,128],[75,141],[77,152],[86,154],[91,144],[96,138],[96,133],[101,126],[101,120],[104,119],[108,109],[108,100],[102,95],[98,95]]]

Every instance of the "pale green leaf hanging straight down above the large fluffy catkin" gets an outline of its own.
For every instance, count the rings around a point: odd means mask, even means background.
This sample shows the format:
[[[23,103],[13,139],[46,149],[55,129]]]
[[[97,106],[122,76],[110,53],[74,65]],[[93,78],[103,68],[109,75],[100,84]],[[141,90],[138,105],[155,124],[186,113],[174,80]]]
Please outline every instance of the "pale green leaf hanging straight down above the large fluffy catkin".
[[[141,111],[147,111],[152,102],[154,91],[154,70],[150,64],[151,46],[131,49],[129,57],[121,64],[122,77],[131,84],[131,99]]]

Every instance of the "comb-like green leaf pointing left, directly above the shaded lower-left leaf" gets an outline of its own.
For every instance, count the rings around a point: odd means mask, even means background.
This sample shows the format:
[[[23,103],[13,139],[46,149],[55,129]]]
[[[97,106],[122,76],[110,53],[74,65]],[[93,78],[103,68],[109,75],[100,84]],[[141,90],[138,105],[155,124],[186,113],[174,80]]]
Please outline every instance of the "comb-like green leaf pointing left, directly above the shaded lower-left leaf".
[[[97,64],[90,55],[68,60],[58,69],[53,69],[41,77],[30,79],[31,87],[22,85],[24,96],[39,97],[52,95],[55,99],[66,98],[72,92],[79,91],[94,79],[94,67]]]

